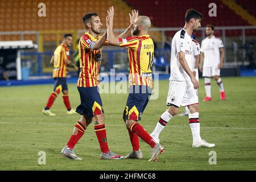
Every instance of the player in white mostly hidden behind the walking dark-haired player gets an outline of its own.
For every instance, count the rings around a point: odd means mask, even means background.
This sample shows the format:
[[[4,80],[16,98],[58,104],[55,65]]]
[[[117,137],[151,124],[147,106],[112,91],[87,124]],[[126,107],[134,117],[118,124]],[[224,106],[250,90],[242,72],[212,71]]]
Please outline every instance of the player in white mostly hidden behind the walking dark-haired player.
[[[192,49],[193,49],[193,56],[192,56],[192,71],[193,75],[196,77],[196,80],[199,81],[199,74],[198,74],[198,67],[200,61],[200,44],[195,40],[195,36],[191,36],[192,38]],[[188,106],[185,107],[185,111],[180,113],[179,116],[188,115],[189,109]]]

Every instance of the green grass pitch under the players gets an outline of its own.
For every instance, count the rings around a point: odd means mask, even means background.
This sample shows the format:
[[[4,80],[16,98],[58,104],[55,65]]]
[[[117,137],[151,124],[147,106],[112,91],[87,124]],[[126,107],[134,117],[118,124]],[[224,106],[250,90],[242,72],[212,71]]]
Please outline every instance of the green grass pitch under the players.
[[[90,125],[75,147],[81,161],[63,158],[61,148],[69,139],[79,114],[67,115],[61,94],[43,115],[53,85],[0,88],[0,170],[255,170],[256,169],[256,78],[223,77],[226,100],[212,80],[212,101],[204,103],[204,82],[200,79],[201,137],[214,148],[192,148],[188,117],[174,117],[160,135],[165,151],[158,162],[148,162],[150,147],[141,143],[142,160],[101,160],[100,147]],[[167,109],[168,80],[159,82],[159,98],[151,100],[141,124],[151,133]],[[76,84],[69,84],[69,98],[75,109],[80,104]],[[131,151],[129,135],[122,121],[127,94],[102,94],[105,123],[111,150],[126,155]],[[184,108],[180,109],[180,112]],[[46,164],[39,165],[39,151],[46,152]],[[209,152],[217,154],[210,165]]]

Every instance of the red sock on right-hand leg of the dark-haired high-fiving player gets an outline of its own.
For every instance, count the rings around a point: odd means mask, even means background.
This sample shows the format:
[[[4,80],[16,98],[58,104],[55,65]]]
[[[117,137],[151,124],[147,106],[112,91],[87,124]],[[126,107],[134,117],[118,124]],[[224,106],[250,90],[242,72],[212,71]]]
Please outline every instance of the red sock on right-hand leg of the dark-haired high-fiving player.
[[[105,154],[109,152],[108,140],[106,138],[105,124],[94,125],[94,131],[98,138],[98,143],[100,144],[101,151]]]

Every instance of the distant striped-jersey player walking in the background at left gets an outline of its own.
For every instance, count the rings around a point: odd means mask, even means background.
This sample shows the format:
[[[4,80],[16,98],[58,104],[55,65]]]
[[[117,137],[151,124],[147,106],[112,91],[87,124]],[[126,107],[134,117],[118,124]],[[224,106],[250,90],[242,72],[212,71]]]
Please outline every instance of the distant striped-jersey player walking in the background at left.
[[[50,108],[57,98],[57,96],[60,94],[60,92],[63,93],[62,98],[65,106],[67,107],[67,114],[75,114],[75,110],[71,108],[69,97],[68,97],[68,85],[67,85],[67,71],[68,65],[72,65],[73,68],[77,71],[79,68],[76,67],[75,64],[73,64],[69,57],[69,48],[72,46],[73,38],[72,34],[65,34],[63,42],[58,46],[55,51],[54,55],[51,59],[51,64],[53,65],[54,69],[52,72],[52,77],[54,78],[54,88],[53,92],[48,98],[46,107],[44,107],[42,113],[46,115],[55,115],[51,112]]]

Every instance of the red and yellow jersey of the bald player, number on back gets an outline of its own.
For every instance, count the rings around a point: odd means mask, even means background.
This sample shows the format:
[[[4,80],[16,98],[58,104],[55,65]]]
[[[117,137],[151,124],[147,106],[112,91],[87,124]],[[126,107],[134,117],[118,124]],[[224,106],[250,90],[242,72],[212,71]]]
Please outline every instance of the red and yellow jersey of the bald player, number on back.
[[[149,35],[119,38],[121,47],[128,47],[129,53],[129,83],[130,85],[146,85],[153,87],[152,63],[154,58],[154,43]]]

